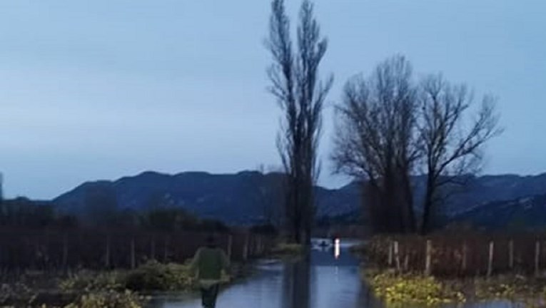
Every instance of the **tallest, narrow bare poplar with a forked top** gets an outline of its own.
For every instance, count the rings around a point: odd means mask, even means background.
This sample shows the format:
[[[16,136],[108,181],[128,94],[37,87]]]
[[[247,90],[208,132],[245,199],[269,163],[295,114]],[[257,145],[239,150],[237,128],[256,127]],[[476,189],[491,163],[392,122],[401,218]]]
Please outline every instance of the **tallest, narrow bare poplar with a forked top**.
[[[308,242],[314,217],[313,185],[318,177],[316,153],[323,102],[333,82],[331,76],[321,82],[318,73],[328,42],[320,36],[310,1],[304,0],[301,5],[296,50],[284,1],[273,0],[271,9],[266,46],[273,64],[268,76],[269,89],[283,111],[277,145],[288,178],[285,213],[292,240]]]

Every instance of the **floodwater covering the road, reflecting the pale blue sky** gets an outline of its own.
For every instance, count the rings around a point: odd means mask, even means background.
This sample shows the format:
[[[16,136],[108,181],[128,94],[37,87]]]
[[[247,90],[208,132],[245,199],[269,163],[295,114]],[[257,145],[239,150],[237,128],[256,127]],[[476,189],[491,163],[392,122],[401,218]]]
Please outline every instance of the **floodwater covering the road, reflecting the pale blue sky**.
[[[322,240],[314,240],[320,243]],[[263,260],[257,273],[223,289],[217,308],[382,308],[362,284],[358,260],[342,241],[339,249],[315,245],[307,260],[280,262]],[[153,299],[151,308],[200,308],[198,294],[176,294]],[[458,306],[461,307],[461,306]],[[465,308],[520,307],[509,302],[467,303]],[[449,307],[446,307],[449,308]]]

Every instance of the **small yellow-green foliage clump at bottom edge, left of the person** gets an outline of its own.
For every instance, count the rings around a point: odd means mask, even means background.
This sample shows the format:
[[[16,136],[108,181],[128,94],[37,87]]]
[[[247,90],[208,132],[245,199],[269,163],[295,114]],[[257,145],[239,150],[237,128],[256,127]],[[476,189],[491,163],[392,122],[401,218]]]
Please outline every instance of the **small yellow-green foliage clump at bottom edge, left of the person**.
[[[76,302],[64,308],[141,308],[143,299],[126,292],[106,292],[82,295]]]

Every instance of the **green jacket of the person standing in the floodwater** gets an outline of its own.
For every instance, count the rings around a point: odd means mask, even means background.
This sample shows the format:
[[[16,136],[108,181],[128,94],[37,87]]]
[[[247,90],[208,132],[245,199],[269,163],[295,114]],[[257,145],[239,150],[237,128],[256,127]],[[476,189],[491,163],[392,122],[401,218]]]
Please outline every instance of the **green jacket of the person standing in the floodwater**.
[[[229,271],[229,260],[220,248],[201,247],[191,262],[191,272],[197,272],[198,279],[219,280],[222,270]]]

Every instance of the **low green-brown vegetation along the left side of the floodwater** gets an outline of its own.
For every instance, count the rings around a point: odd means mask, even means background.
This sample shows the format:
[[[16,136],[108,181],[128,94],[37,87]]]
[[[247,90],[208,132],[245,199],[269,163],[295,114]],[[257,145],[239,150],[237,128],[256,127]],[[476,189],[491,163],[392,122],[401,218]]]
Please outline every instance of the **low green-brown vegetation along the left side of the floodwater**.
[[[232,272],[234,279],[238,279],[248,274],[248,269],[235,264]],[[154,260],[134,270],[82,270],[69,277],[24,281],[2,286],[2,307],[138,308],[146,304],[151,294],[188,292],[197,288],[187,263],[162,264]],[[231,281],[224,275],[224,284]]]

